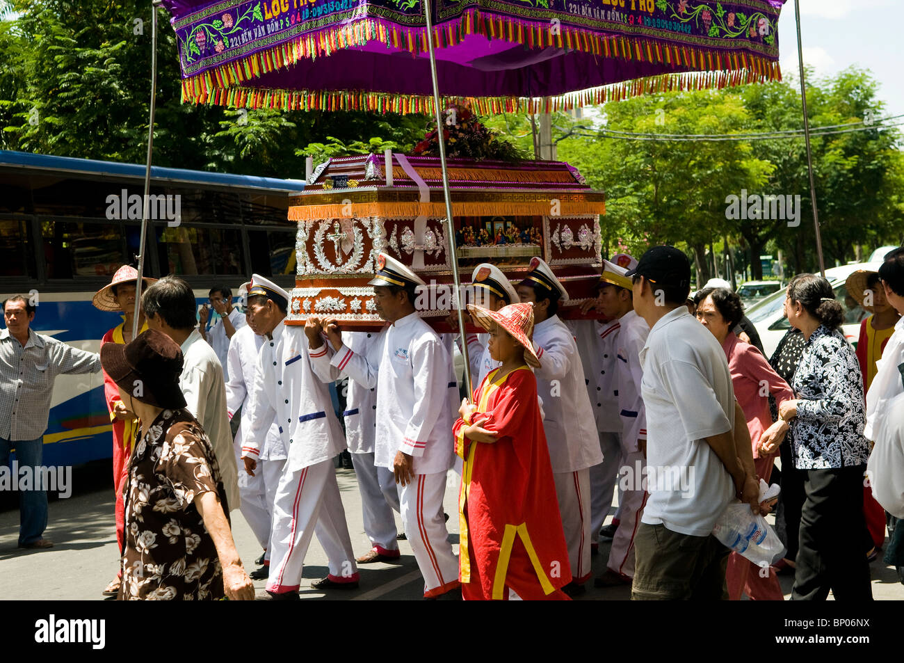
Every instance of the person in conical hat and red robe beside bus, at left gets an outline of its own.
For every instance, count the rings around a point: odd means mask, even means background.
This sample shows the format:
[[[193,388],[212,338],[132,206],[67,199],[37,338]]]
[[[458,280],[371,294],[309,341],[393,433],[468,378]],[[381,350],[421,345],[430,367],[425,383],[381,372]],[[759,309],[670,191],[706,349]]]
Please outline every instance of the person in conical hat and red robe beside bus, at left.
[[[108,343],[126,344],[132,340],[132,329],[135,324],[135,294],[137,290],[138,270],[129,265],[123,265],[113,275],[113,279],[103,288],[99,289],[91,299],[94,308],[101,311],[117,311],[123,314],[124,320],[116,327],[109,329],[100,339],[100,346]],[[144,278],[145,285],[153,283],[156,279]],[[144,315],[139,313],[139,334],[146,331]],[[113,425],[113,492],[116,495],[116,540],[119,544],[119,553],[122,554],[124,507],[122,488],[126,482],[126,466],[128,457],[132,454],[132,440],[135,439],[138,420],[134,412],[128,412],[126,406],[119,398],[119,390],[110,376],[104,372],[104,398],[107,400],[107,409],[110,422]],[[104,596],[116,596],[119,592],[120,578],[117,575],[107,588],[102,592]]]

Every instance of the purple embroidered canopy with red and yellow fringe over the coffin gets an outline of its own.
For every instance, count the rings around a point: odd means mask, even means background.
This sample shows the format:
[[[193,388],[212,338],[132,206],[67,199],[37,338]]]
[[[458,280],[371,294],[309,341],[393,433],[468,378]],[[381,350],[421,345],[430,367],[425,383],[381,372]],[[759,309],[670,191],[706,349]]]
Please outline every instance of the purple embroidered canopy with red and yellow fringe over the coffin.
[[[420,0],[163,0],[184,100],[432,108]],[[433,0],[438,84],[478,111],[780,78],[784,0]],[[673,74],[683,74],[673,76]],[[618,85],[613,85],[618,84]],[[601,87],[607,86],[607,87]]]

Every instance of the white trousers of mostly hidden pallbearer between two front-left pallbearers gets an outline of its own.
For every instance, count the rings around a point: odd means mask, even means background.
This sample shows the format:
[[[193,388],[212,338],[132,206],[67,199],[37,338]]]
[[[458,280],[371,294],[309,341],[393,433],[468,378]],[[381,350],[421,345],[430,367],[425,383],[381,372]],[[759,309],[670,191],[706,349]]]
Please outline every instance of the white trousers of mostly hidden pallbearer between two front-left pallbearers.
[[[364,534],[378,553],[397,552],[399,544],[396,535],[399,533],[392,509],[398,511],[400,507],[395,476],[391,469],[374,466],[372,453],[353,453],[352,465],[354,476],[358,479],[358,492],[361,493]]]

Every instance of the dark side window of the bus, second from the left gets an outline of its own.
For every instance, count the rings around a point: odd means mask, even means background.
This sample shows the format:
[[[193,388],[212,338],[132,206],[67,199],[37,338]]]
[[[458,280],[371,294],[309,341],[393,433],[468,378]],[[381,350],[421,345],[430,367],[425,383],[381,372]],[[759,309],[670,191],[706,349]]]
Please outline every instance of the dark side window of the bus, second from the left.
[[[42,221],[48,279],[112,276],[123,264],[120,223]]]

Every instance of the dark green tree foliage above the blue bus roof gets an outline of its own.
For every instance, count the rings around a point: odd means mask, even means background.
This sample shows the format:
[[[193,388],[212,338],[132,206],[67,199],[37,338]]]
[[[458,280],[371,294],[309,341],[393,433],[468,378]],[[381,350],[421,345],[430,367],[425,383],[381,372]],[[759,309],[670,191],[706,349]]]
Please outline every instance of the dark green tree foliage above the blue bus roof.
[[[150,11],[144,0],[3,0],[0,19],[10,19],[0,20],[0,147],[143,162]],[[297,153],[326,137],[349,149],[407,149],[423,135],[422,116],[184,104],[168,19],[158,10],[156,165],[298,177]]]

